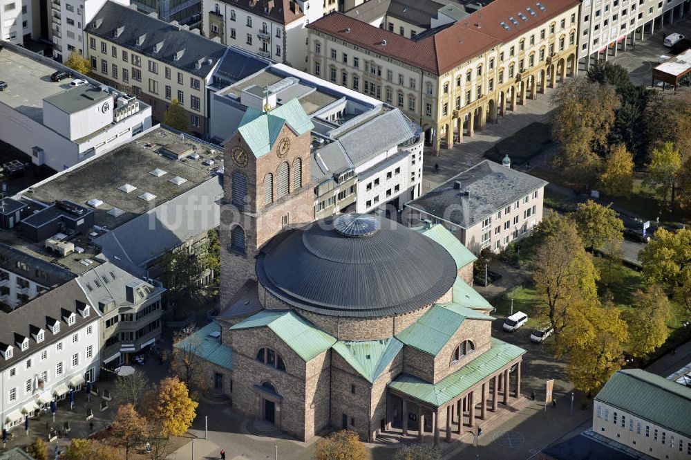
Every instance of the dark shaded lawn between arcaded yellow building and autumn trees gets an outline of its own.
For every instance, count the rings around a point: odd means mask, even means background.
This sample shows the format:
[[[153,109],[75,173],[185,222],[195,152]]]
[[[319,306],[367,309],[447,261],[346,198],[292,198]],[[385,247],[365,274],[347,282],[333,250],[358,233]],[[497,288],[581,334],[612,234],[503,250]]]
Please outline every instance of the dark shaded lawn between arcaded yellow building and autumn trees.
[[[530,142],[526,142],[529,139]],[[551,142],[551,131],[547,123],[534,122],[518,132],[497,142],[484,152],[485,158],[502,163],[504,155],[509,154],[513,165],[522,165],[540,154]]]

